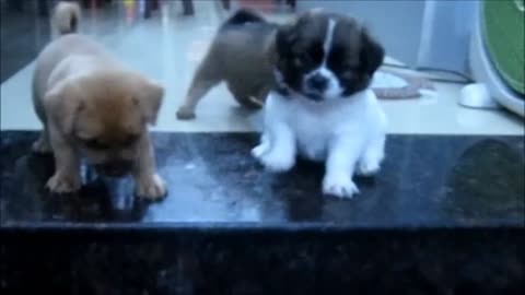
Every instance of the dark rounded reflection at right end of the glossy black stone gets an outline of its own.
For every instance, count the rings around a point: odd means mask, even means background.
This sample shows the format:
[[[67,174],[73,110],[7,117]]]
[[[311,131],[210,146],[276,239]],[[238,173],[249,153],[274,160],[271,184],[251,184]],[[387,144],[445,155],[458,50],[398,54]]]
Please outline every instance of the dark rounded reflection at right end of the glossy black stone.
[[[451,217],[475,222],[493,214],[523,220],[524,169],[523,149],[497,140],[472,144],[448,175],[445,205]]]

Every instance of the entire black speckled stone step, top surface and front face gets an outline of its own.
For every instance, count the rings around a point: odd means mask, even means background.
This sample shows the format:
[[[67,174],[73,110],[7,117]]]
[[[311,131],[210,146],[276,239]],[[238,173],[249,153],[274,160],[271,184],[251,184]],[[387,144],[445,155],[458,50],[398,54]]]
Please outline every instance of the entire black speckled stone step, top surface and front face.
[[[170,196],[84,167],[78,196],[44,184],[35,132],[2,132],[0,287],[54,294],[521,294],[524,138],[392,135],[352,200],[323,166],[273,175],[247,133],[155,133]],[[31,282],[31,283],[30,283]]]

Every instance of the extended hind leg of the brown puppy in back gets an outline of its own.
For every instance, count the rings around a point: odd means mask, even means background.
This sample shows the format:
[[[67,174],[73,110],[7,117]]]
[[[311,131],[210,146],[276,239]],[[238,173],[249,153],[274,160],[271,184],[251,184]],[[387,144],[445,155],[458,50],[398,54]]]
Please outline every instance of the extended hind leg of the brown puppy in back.
[[[200,64],[197,73],[191,81],[186,101],[177,110],[177,118],[180,120],[188,120],[195,118],[195,108],[199,101],[219,82],[221,82],[221,75],[217,72],[213,64],[207,58],[202,64]]]

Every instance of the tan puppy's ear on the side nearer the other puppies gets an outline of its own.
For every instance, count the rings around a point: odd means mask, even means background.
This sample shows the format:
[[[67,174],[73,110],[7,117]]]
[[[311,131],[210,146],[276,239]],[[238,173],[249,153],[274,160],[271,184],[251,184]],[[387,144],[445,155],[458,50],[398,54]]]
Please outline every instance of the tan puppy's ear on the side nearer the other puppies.
[[[155,125],[164,96],[164,88],[152,81],[144,81],[141,84],[142,86],[138,90],[138,95],[135,97],[136,102],[141,108],[145,121]]]

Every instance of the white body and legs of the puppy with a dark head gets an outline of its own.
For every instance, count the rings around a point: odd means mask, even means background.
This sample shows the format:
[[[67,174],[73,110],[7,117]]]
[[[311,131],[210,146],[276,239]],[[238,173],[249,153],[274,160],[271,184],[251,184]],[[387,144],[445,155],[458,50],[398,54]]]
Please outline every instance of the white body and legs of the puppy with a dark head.
[[[298,154],[324,161],[323,192],[351,198],[359,192],[354,172],[380,169],[387,122],[371,90],[319,103],[298,93],[283,97],[271,92],[264,111],[260,144],[252,154],[269,170],[292,168]]]

